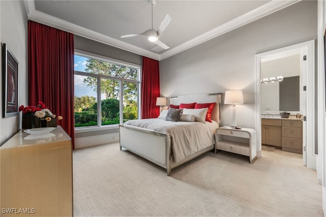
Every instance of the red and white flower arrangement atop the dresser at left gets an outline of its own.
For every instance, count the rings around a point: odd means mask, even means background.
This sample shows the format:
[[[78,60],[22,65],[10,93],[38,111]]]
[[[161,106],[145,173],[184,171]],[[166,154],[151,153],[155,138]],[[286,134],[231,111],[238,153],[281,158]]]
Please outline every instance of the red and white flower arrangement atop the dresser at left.
[[[53,115],[52,112],[46,107],[46,105],[39,101],[38,104],[35,105],[29,105],[24,107],[23,105],[19,106],[19,112],[22,112],[23,114],[26,113],[34,113],[34,116],[38,117],[40,120],[46,120],[51,121],[52,119],[56,118],[56,115]],[[62,116],[57,117],[58,120],[63,119]]]

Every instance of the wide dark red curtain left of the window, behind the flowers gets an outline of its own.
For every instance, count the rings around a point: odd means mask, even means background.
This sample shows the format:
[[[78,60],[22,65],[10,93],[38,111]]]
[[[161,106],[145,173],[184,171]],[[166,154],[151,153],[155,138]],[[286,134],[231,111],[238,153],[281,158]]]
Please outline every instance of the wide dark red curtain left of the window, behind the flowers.
[[[29,21],[29,105],[45,103],[58,125],[70,135],[74,148],[74,40],[73,34]]]

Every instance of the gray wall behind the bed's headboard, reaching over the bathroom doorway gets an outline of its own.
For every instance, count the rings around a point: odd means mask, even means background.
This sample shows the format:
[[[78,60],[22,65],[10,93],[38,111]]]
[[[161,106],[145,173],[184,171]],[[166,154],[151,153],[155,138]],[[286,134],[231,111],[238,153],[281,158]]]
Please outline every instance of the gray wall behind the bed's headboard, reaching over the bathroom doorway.
[[[161,95],[241,89],[237,125],[255,128],[255,55],[317,39],[317,1],[302,1],[160,62]],[[224,99],[222,99],[224,100]],[[222,105],[222,125],[231,108]]]

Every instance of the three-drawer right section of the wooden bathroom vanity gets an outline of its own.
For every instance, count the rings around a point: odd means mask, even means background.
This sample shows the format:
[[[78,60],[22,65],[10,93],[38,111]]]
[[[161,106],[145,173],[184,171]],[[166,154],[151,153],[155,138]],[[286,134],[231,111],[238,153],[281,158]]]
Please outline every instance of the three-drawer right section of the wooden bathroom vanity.
[[[301,120],[282,120],[282,150],[302,154]]]

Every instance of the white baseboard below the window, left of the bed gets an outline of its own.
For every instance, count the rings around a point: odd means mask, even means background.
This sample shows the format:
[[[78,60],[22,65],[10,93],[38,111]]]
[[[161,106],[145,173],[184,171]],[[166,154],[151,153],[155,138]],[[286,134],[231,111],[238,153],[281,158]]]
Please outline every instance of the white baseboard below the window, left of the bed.
[[[119,141],[119,132],[103,135],[94,135],[92,137],[75,138],[75,149],[89,146],[102,145]]]

